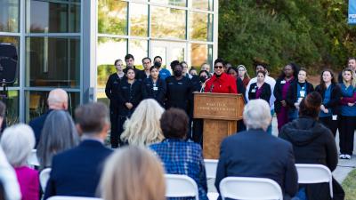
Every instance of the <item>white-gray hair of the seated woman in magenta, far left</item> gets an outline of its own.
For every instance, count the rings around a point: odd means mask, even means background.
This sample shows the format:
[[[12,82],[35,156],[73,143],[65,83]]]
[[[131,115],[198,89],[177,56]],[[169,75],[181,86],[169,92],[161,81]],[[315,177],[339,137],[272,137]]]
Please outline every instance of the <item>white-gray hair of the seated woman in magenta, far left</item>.
[[[35,134],[27,124],[12,125],[4,130],[0,145],[13,167],[23,166],[35,147]]]

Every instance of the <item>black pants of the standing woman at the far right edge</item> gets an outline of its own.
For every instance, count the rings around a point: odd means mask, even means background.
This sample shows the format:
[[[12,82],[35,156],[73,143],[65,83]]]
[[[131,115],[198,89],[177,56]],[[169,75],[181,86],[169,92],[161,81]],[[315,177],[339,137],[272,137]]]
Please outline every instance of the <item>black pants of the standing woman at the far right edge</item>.
[[[352,155],[356,116],[338,116],[340,153]]]

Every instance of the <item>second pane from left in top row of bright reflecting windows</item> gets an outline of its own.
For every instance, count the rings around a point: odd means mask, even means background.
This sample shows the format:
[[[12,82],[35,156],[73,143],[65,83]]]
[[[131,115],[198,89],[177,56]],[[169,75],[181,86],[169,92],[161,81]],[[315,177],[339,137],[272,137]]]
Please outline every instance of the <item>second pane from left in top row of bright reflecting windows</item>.
[[[147,4],[130,4],[131,36],[148,36],[149,6]]]

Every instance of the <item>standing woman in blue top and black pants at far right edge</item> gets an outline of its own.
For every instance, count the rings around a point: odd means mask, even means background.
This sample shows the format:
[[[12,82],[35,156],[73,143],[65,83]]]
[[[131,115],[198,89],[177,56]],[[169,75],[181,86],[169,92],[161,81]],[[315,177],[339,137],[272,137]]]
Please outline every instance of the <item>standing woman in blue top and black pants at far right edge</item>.
[[[338,129],[340,138],[340,158],[351,159],[353,151],[353,132],[356,128],[356,75],[351,68],[343,71],[343,84],[340,84],[342,100]]]

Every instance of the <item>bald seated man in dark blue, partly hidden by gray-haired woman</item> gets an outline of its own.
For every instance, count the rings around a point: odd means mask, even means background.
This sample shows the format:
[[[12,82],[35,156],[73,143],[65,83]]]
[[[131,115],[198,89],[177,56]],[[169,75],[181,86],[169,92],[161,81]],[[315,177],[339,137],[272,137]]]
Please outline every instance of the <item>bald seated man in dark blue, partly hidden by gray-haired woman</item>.
[[[38,116],[35,119],[29,121],[28,125],[31,126],[32,130],[35,132],[36,145],[38,145],[39,139],[41,137],[41,132],[44,127],[44,121],[53,110],[67,110],[68,109],[68,94],[64,90],[57,88],[52,90],[48,94],[48,110],[42,116]]]

